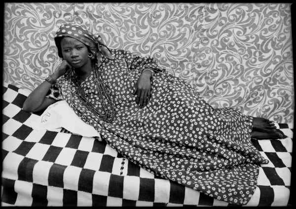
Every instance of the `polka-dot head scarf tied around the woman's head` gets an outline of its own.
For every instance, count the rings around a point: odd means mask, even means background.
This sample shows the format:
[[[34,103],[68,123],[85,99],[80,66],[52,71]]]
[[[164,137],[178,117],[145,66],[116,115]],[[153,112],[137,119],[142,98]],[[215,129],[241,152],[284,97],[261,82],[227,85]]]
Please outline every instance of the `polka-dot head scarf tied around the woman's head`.
[[[110,49],[103,43],[102,38],[99,35],[92,34],[82,26],[73,24],[61,25],[54,36],[55,40],[58,37],[71,37],[87,45],[93,56],[97,57],[98,67],[102,62],[102,54],[111,59],[113,58]]]

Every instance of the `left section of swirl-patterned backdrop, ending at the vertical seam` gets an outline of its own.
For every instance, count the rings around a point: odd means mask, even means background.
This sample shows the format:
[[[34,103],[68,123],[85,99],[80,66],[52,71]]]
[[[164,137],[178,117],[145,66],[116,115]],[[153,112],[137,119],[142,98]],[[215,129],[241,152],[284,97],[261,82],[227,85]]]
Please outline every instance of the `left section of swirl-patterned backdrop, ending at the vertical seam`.
[[[202,8],[190,3],[5,3],[4,82],[33,90],[54,72],[60,59],[53,36],[65,23],[101,33],[111,48],[152,55],[161,67],[186,78],[195,67]]]

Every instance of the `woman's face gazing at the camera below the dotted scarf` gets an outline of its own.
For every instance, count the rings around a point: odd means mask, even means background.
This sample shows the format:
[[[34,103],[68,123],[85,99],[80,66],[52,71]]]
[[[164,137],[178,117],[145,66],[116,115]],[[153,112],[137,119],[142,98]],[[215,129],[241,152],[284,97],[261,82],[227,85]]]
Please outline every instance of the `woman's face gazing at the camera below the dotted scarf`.
[[[64,37],[61,40],[61,49],[63,58],[74,68],[81,68],[88,62],[91,62],[88,57],[87,46],[74,38]]]

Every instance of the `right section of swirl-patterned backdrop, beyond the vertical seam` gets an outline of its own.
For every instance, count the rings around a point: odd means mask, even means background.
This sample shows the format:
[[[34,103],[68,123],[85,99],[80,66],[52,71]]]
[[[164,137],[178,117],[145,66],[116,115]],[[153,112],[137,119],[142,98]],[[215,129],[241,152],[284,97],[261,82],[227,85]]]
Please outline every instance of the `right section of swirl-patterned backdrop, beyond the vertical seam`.
[[[192,86],[215,108],[294,122],[291,4],[206,4]]]

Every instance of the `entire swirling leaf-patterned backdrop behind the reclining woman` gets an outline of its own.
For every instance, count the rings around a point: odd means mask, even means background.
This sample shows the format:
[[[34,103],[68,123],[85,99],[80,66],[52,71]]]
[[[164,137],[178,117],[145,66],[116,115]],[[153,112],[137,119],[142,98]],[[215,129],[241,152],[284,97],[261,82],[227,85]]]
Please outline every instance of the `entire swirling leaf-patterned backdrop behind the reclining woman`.
[[[33,90],[61,59],[61,24],[152,55],[213,107],[294,121],[291,3],[5,3],[3,82]]]

